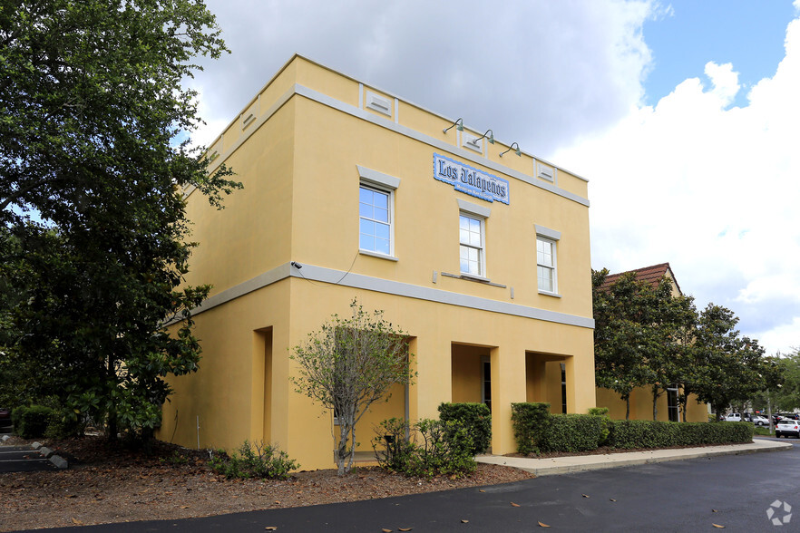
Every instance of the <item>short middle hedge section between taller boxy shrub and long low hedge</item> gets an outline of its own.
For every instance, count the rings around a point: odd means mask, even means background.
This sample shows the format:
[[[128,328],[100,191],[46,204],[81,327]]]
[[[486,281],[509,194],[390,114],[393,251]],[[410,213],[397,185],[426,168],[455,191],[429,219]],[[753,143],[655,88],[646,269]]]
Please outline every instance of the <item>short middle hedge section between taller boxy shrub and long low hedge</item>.
[[[591,414],[552,414],[541,438],[541,451],[592,451],[608,435],[606,419]]]

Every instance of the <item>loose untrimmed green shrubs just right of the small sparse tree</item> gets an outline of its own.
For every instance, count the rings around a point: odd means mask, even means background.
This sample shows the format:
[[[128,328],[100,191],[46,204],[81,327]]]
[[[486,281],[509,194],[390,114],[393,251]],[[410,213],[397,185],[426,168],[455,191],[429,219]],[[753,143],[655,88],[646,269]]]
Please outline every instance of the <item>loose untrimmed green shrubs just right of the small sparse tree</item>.
[[[462,477],[477,468],[472,436],[457,421],[424,419],[410,427],[392,418],[376,428],[372,446],[381,468],[410,477]]]

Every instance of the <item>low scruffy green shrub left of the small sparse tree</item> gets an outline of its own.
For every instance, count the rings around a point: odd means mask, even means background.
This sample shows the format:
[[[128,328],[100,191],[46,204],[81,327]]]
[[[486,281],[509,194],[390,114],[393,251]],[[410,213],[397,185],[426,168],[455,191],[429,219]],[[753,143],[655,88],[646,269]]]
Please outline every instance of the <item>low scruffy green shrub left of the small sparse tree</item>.
[[[292,470],[298,470],[298,461],[288,458],[286,451],[264,442],[244,443],[238,451],[228,455],[224,450],[212,454],[210,467],[226,478],[269,478],[286,480]]]

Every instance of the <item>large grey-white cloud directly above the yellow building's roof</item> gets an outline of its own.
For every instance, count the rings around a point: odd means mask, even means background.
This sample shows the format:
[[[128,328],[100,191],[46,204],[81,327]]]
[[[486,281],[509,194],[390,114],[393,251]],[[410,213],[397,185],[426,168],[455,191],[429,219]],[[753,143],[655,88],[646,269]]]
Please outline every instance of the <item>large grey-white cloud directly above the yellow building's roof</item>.
[[[227,123],[301,53],[543,157],[639,102],[650,62],[641,24],[657,15],[651,2],[621,0],[208,5],[233,52],[194,83],[210,124]]]

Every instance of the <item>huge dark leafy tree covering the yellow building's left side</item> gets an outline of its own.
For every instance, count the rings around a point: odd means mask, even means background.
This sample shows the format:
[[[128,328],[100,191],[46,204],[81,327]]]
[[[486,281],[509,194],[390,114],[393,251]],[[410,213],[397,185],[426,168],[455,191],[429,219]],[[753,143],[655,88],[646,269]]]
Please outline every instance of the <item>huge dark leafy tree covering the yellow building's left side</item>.
[[[197,369],[190,309],[209,287],[179,288],[183,192],[221,208],[240,184],[190,148],[181,81],[225,51],[200,0],[0,4],[0,280],[19,296],[0,301],[0,364],[41,369],[37,393],[112,438],[151,431],[164,377]]]

